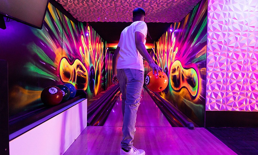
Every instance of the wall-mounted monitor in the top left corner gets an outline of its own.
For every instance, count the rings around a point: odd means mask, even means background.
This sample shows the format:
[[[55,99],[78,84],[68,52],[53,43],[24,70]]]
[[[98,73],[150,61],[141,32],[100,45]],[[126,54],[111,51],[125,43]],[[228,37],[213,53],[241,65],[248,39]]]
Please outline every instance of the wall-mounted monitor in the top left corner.
[[[0,13],[42,29],[49,0],[0,0]]]

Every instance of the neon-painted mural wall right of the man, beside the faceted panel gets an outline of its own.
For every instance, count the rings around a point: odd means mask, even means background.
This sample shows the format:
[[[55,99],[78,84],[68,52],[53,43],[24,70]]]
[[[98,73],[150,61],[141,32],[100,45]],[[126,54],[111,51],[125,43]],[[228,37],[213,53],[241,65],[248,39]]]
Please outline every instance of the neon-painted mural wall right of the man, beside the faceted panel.
[[[181,22],[173,23],[154,46],[152,57],[170,81],[160,94],[196,124],[203,126],[207,1],[198,3]]]

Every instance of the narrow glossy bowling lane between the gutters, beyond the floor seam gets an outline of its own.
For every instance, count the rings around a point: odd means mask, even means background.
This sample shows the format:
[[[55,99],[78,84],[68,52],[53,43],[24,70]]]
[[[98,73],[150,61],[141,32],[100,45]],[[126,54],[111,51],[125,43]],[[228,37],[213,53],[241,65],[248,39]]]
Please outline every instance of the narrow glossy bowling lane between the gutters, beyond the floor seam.
[[[171,127],[168,120],[157,107],[146,90],[141,93],[140,106],[137,112],[136,127]],[[122,99],[117,99],[104,126],[122,126]]]

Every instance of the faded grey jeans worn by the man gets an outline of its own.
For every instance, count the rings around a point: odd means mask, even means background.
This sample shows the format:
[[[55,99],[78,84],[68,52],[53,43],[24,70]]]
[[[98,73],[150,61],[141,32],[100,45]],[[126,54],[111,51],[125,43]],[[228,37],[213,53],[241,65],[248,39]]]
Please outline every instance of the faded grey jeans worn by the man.
[[[133,146],[136,113],[140,105],[140,96],[144,84],[144,71],[118,69],[117,79],[122,92],[123,140],[121,147],[130,150]]]

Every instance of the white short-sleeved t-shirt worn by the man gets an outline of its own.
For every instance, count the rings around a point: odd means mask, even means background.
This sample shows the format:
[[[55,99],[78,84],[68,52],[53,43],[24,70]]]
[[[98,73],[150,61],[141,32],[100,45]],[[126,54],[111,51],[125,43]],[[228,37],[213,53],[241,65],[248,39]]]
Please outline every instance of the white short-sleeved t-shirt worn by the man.
[[[144,45],[146,43],[147,25],[144,21],[136,21],[126,27],[122,31],[117,45],[120,47],[117,69],[136,69],[144,71],[143,57],[136,49],[135,45],[135,32],[142,33],[144,35]]]

